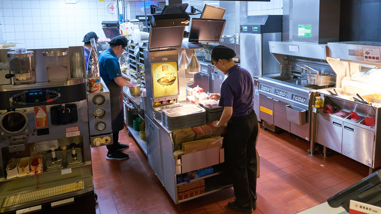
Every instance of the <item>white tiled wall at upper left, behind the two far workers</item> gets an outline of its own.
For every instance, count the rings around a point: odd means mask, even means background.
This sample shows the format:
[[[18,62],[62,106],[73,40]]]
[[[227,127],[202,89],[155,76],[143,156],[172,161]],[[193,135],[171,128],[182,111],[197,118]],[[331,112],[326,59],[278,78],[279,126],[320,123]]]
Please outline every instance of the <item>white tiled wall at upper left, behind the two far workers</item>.
[[[5,43],[17,47],[49,48],[83,45],[86,33],[105,38],[102,21],[116,21],[106,7],[116,1],[0,0],[0,23]]]

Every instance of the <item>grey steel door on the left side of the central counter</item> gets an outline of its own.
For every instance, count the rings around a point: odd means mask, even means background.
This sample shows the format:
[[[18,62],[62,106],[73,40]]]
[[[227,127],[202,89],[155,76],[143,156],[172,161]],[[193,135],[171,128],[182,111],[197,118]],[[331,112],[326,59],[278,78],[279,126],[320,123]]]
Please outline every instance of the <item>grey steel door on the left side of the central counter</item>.
[[[160,129],[148,117],[145,118],[145,123],[148,164],[163,183]]]

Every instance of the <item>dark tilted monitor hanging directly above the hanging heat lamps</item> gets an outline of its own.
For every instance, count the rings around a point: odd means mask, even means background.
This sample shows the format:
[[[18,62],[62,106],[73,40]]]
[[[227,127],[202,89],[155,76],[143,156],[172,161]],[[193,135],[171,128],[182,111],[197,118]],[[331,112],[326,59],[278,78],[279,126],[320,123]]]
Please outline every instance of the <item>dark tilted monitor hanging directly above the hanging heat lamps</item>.
[[[225,27],[225,20],[192,19],[189,33],[190,43],[219,43]]]

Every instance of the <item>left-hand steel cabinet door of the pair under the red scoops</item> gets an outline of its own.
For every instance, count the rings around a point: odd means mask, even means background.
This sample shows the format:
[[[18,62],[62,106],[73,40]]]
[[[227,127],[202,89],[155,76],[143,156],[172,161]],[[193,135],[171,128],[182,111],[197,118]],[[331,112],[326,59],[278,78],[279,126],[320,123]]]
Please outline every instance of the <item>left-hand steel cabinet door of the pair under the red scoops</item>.
[[[316,142],[341,153],[342,126],[342,121],[318,114]]]

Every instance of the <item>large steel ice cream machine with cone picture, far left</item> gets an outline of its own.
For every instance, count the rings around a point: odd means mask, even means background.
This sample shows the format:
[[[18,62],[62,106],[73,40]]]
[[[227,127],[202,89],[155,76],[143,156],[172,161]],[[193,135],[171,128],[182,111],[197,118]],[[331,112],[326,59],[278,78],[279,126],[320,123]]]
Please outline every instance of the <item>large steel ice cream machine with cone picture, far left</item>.
[[[84,203],[79,198],[87,198],[84,212],[95,213],[83,47],[15,50],[7,58],[0,213],[51,213],[57,204],[62,212],[64,200]]]

